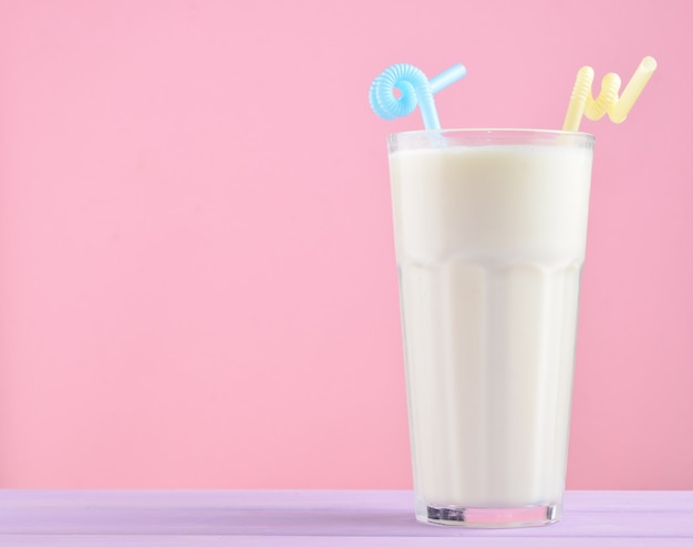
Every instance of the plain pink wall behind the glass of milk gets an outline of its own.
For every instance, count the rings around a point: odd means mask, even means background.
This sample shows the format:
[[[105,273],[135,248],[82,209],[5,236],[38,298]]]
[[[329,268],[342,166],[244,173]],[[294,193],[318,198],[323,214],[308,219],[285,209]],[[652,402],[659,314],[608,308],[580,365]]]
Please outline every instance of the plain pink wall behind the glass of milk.
[[[411,487],[385,136],[597,134],[570,488],[693,488],[686,0],[0,0],[0,487]],[[596,85],[598,87],[598,85]]]

